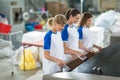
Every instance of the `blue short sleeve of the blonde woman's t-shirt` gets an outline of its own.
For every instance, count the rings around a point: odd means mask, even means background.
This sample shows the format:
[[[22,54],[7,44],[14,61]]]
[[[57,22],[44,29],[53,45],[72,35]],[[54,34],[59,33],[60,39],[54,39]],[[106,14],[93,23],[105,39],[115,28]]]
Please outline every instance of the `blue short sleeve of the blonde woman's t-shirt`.
[[[51,34],[47,33],[44,37],[44,50],[45,51],[50,51],[50,46],[51,46]]]

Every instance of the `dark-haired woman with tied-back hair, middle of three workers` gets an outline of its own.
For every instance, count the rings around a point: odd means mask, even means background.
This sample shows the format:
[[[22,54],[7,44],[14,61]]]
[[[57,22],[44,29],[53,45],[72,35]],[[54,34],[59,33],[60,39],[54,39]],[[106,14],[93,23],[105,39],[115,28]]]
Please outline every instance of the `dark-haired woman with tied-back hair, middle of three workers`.
[[[76,56],[83,56],[78,49],[79,35],[77,27],[74,23],[77,23],[80,18],[80,12],[73,8],[67,10],[66,14],[67,24],[62,30],[62,40],[64,43],[65,58],[67,61],[74,59]]]

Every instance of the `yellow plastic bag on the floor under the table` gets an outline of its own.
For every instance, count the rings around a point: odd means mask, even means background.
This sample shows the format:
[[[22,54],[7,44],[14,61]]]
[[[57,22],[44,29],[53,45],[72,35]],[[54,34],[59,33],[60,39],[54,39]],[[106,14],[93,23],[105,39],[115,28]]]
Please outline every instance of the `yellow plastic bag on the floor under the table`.
[[[34,60],[32,51],[25,49],[24,53],[20,60],[20,69],[21,70],[33,70],[36,69],[36,61]]]

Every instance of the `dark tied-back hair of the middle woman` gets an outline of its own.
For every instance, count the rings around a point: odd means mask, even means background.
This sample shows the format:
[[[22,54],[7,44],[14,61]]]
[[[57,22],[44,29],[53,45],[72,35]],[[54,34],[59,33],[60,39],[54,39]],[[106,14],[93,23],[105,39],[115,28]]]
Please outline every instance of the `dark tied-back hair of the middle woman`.
[[[75,8],[72,9],[68,9],[65,13],[66,19],[69,20],[70,15],[72,15],[73,17],[76,16],[77,14],[80,14],[80,11],[78,11]]]

